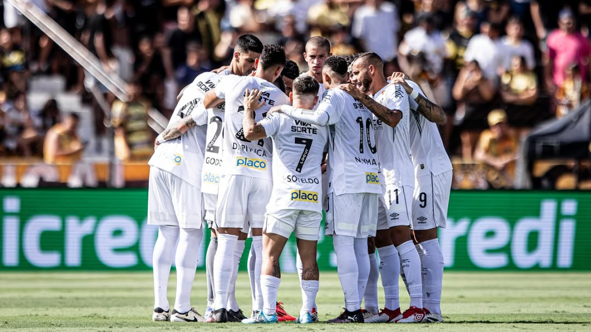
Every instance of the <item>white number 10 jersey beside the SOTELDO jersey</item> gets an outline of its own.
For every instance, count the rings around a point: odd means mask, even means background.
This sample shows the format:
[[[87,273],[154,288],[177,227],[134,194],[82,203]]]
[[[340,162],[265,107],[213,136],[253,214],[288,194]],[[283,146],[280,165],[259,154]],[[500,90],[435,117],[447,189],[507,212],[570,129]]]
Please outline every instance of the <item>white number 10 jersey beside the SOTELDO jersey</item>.
[[[318,106],[329,115],[328,193],[381,193],[372,113],[349,93],[326,90]]]

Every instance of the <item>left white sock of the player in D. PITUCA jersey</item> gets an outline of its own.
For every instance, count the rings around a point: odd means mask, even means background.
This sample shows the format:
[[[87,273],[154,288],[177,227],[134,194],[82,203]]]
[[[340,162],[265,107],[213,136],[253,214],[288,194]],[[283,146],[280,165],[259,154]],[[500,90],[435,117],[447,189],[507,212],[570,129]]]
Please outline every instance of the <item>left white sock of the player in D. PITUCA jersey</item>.
[[[235,268],[234,250],[236,249],[236,242],[238,242],[238,236],[236,235],[217,235],[217,252],[213,262],[213,281],[216,290],[213,307],[216,310],[226,308],[228,302],[228,288]]]

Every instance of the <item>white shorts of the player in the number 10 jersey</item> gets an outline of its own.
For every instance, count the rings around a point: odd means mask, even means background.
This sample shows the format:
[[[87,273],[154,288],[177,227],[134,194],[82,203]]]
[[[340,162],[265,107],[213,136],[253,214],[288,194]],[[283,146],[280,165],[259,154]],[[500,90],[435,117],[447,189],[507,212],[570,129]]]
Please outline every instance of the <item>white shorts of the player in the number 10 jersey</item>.
[[[365,239],[375,236],[379,194],[342,194],[326,196],[324,235],[353,236]]]

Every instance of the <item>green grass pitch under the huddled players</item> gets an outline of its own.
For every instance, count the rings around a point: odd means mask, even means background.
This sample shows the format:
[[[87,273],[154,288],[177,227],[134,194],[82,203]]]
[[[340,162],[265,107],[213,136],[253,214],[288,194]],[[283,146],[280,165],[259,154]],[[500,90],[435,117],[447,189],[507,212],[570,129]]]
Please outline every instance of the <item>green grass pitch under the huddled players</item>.
[[[321,272],[317,297],[323,321],[340,313],[343,293],[335,272]],[[342,324],[243,326],[205,323],[152,323],[150,272],[3,272],[0,273],[0,330],[4,331],[591,331],[591,274],[544,272],[446,272],[443,324]],[[174,304],[175,274],[168,288]],[[408,295],[401,283],[401,307]],[[238,278],[236,294],[251,310],[248,275]],[[382,288],[380,303],[383,304]],[[203,313],[205,275],[193,284],[193,305]],[[284,274],[279,300],[297,315],[297,275]]]

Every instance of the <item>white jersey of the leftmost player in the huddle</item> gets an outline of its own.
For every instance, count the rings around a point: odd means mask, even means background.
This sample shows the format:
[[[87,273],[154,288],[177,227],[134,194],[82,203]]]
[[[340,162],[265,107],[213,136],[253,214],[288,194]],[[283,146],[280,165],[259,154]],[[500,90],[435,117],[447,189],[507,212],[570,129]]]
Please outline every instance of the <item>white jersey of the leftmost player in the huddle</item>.
[[[173,115],[168,121],[168,126],[176,123],[186,116],[191,116],[197,126],[176,139],[163,142],[158,145],[154,155],[148,161],[148,165],[158,167],[161,170],[171,172],[194,187],[201,187],[201,169],[205,150],[205,137],[207,128],[207,112],[203,108],[203,97],[209,90],[207,84],[215,80],[217,74],[200,74],[189,84],[178,100]]]

